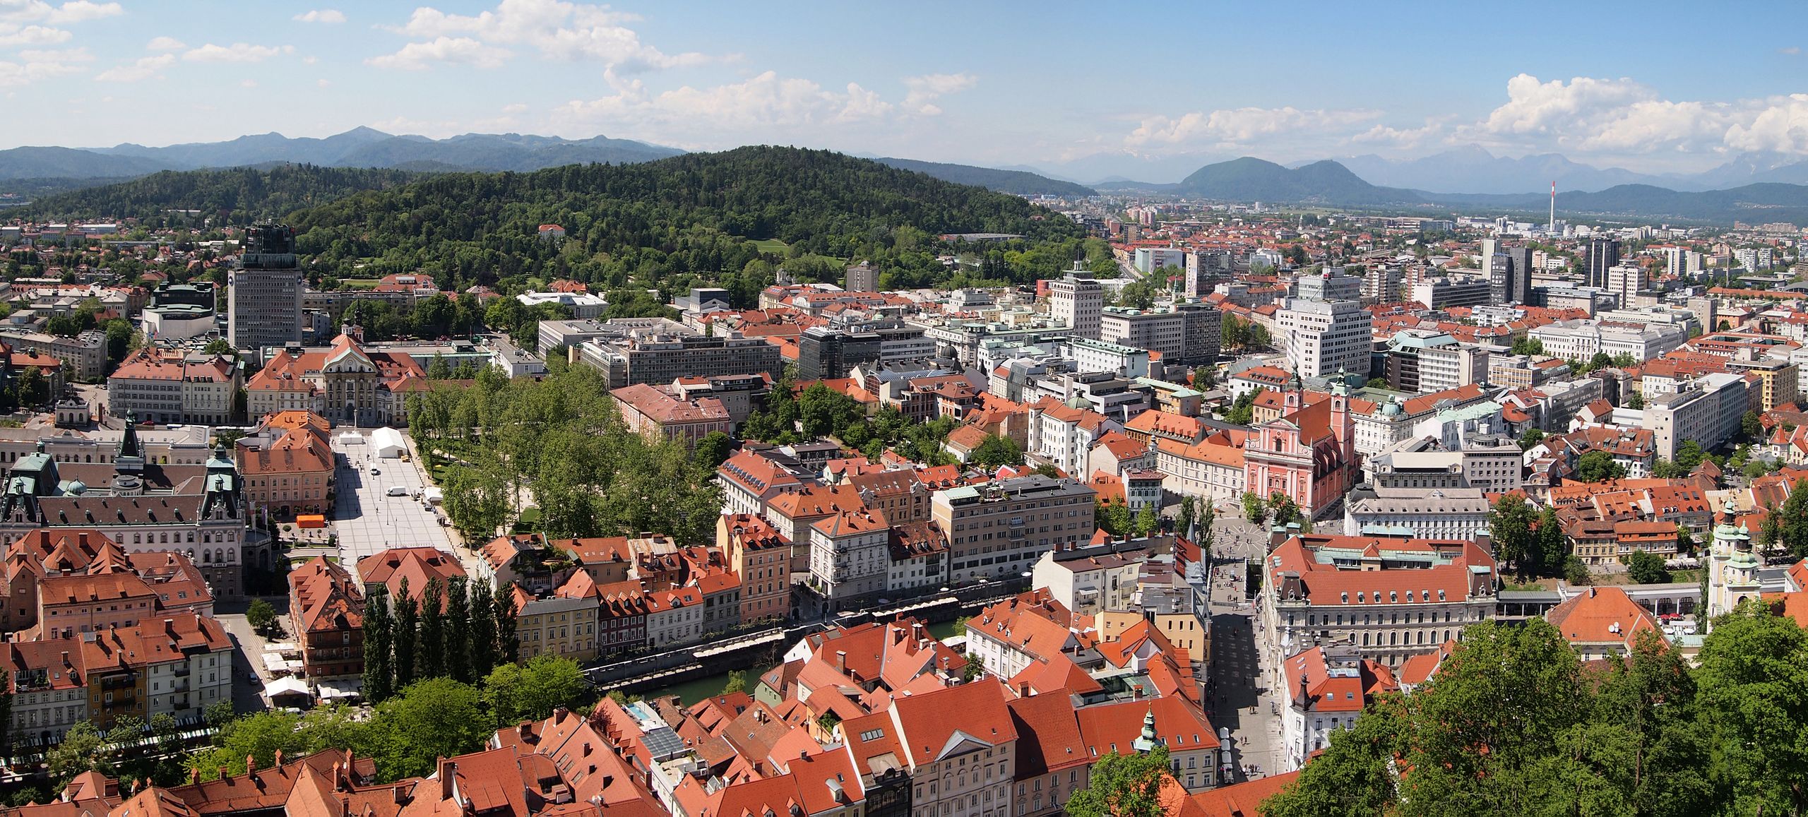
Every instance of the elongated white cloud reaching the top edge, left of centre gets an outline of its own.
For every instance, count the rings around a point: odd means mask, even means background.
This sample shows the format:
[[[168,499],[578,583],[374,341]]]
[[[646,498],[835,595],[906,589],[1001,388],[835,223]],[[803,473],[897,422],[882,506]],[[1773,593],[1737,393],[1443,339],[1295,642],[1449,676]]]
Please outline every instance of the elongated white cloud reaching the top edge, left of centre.
[[[618,72],[673,69],[709,61],[696,52],[667,54],[640,42],[622,25],[638,16],[607,5],[560,0],[503,0],[494,11],[447,14],[430,5],[414,9],[409,22],[392,29],[416,38],[468,38],[481,43],[535,49],[548,60],[595,60]]]

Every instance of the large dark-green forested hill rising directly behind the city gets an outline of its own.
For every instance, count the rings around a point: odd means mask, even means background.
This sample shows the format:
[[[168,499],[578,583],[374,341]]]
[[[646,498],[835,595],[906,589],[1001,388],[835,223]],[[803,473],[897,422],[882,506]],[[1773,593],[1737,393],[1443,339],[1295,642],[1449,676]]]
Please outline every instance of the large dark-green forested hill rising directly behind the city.
[[[940,271],[938,233],[1025,235],[1016,249],[1045,249],[1032,264],[1023,260],[1029,253],[1016,253],[998,273],[1029,278],[1067,268],[1081,239],[1067,217],[1014,195],[777,146],[530,174],[443,174],[289,221],[298,249],[325,271],[342,275],[354,264],[365,264],[362,275],[423,271],[441,287],[533,275],[680,289],[739,273],[750,280],[718,282],[749,287],[761,277],[750,262],[763,251],[772,260],[866,257]],[[566,239],[541,240],[541,224],[562,226]],[[682,273],[696,277],[674,278]],[[833,268],[823,280],[839,277]]]

